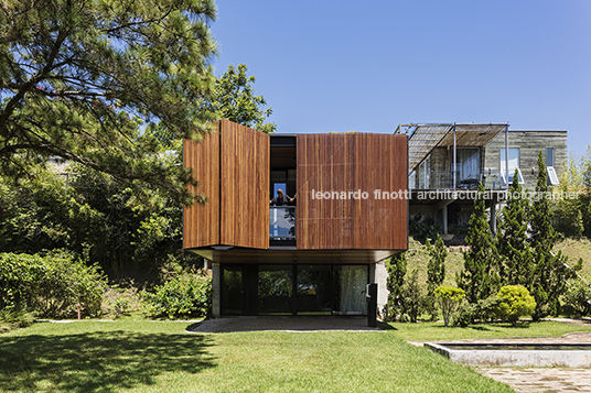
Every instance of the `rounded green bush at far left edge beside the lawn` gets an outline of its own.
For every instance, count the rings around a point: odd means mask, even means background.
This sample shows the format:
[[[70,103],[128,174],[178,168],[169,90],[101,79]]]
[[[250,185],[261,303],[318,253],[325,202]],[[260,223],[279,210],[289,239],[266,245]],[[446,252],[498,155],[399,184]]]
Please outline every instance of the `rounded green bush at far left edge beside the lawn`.
[[[46,255],[0,253],[0,308],[29,309],[37,317],[100,313],[107,279],[97,265],[57,250]]]

